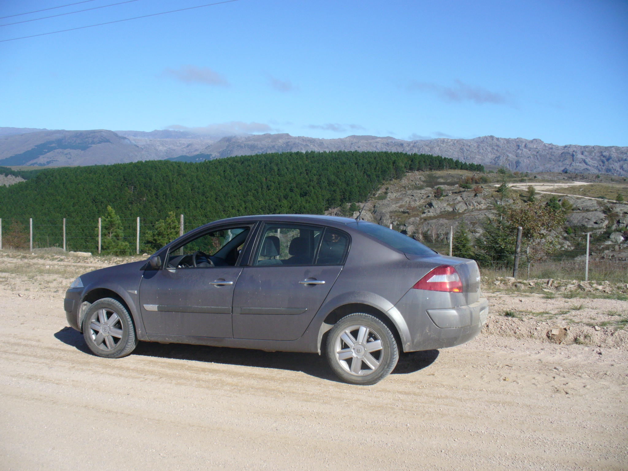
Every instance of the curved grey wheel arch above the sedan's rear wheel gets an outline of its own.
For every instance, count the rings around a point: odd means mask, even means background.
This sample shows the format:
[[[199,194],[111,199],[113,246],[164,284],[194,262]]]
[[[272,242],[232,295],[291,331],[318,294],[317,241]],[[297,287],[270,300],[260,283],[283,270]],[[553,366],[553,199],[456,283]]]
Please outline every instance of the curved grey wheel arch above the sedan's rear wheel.
[[[382,311],[386,317],[393,322],[397,332],[399,332],[399,337],[401,337],[401,348],[403,351],[405,352],[410,348],[412,339],[410,337],[408,324],[391,301],[380,295],[376,295],[376,293],[371,293],[370,291],[352,291],[349,293],[342,293],[340,295],[333,296],[331,299],[325,300],[325,303],[323,303],[313,318],[310,327],[318,326],[317,345],[319,354],[323,334],[333,327],[333,325],[324,322],[325,318],[337,308],[347,304],[365,304],[377,309],[378,311]],[[308,330],[310,330],[310,327],[308,327]]]

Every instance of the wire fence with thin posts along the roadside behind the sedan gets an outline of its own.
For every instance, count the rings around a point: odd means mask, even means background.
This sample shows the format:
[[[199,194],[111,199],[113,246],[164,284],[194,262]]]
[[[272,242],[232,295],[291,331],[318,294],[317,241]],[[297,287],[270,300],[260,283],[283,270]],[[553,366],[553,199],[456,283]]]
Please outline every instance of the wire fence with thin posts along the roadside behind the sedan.
[[[153,236],[157,231],[157,223],[163,218],[158,217],[129,217],[121,218],[122,237],[127,242],[129,254],[151,254],[160,247],[154,244]],[[185,234],[189,230],[212,222],[198,217],[177,216],[176,235]],[[16,225],[17,223],[17,225]],[[435,251],[450,254],[450,238],[455,237],[453,231],[420,232],[413,237]],[[587,252],[586,237],[590,236],[590,251]],[[92,254],[106,253],[102,241],[107,236],[104,228],[97,219],[22,219],[3,222],[0,219],[0,249],[12,247],[14,249],[43,249],[54,248],[74,252],[91,252]],[[604,230],[591,232],[575,232],[568,234],[571,247],[546,257],[541,263],[530,263],[525,251],[521,252],[518,278],[561,278],[561,279],[608,279],[628,282],[628,261],[620,259],[587,260],[587,254],[607,250],[610,247],[609,234]],[[100,244],[99,244],[100,241]],[[453,242],[453,241],[452,241]],[[615,247],[617,244],[613,244]],[[455,253],[454,253],[455,255]],[[489,254],[484,256],[502,254]],[[512,260],[482,261],[480,268],[483,274],[491,276],[512,276]],[[588,270],[587,270],[588,266]],[[587,273],[588,272],[588,273]],[[588,274],[588,276],[587,276]]]

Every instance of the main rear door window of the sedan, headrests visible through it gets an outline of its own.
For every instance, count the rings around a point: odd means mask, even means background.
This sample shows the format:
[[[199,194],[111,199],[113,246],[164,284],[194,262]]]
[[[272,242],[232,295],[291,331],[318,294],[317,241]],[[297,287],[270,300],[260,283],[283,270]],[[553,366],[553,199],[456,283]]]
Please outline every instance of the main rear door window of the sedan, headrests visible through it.
[[[266,223],[253,265],[313,265],[322,234],[322,227]]]

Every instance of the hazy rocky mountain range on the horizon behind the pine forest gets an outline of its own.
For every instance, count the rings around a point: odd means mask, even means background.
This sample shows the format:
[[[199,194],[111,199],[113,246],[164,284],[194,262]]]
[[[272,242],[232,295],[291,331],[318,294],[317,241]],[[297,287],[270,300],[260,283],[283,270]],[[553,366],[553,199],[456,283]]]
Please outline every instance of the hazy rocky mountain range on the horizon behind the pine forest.
[[[10,131],[4,131],[10,130]],[[22,131],[16,134],[14,131]],[[628,147],[557,146],[540,139],[426,139],[348,136],[318,139],[290,134],[202,136],[188,131],[48,131],[0,128],[0,166],[102,165],[138,160],[203,161],[296,151],[391,151],[441,155],[519,171],[612,173],[628,176]]]

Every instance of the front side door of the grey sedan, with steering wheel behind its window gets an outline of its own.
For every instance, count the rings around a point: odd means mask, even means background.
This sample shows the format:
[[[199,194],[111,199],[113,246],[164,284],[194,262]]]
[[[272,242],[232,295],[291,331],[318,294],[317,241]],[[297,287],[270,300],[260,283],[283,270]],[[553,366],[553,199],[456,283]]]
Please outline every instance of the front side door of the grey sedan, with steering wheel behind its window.
[[[146,332],[233,337],[231,303],[242,272],[237,261],[251,229],[212,229],[171,247],[161,269],[145,271],[139,298]]]

